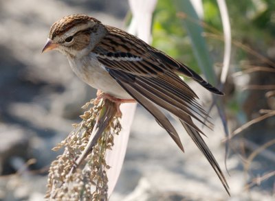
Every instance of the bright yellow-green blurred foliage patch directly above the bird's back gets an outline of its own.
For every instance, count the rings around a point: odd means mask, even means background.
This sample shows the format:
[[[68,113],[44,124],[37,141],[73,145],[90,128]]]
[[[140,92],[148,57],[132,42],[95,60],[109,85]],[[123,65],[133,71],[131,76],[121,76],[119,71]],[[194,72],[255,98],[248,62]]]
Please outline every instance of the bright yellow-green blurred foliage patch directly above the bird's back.
[[[199,71],[190,38],[177,17],[173,2],[159,0],[153,21],[153,46]]]

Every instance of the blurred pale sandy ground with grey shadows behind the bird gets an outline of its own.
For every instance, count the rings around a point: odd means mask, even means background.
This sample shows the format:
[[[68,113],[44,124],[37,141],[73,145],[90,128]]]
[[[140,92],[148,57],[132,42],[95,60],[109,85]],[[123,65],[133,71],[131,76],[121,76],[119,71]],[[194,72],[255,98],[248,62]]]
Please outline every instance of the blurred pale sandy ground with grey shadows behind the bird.
[[[95,91],[76,78],[63,56],[56,52],[41,55],[50,25],[66,14],[86,13],[122,27],[127,9],[126,0],[111,4],[0,1],[0,170],[12,174],[0,178],[0,200],[43,200],[47,182],[43,168],[58,154],[51,148],[65,138],[72,123],[80,121],[80,106],[94,96]],[[209,95],[202,88],[197,84],[192,87],[208,102]],[[244,190],[246,174],[238,154],[230,155],[231,176],[226,174],[223,130],[217,112],[212,116],[217,126],[214,132],[206,130],[206,142],[228,178],[231,198],[184,130],[177,126],[186,150],[183,154],[139,106],[111,200],[273,200],[272,185]],[[36,163],[28,168],[41,172],[26,171],[24,164],[30,158],[36,158]]]

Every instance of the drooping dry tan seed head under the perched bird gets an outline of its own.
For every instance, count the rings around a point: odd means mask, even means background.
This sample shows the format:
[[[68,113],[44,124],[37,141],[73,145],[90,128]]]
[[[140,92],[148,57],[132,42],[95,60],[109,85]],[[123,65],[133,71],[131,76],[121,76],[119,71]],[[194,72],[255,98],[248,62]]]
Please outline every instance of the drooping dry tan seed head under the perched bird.
[[[65,147],[50,166],[45,198],[49,200],[107,200],[109,169],[106,150],[111,150],[113,137],[121,125],[116,107],[108,99],[87,102],[87,111],[69,136],[53,148]]]

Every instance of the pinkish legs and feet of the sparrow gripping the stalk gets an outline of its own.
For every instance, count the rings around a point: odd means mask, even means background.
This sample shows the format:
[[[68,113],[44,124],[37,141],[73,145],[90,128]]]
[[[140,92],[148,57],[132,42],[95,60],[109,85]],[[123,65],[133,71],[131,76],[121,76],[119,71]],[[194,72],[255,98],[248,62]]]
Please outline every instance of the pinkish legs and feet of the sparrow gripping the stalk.
[[[120,104],[126,104],[126,103],[136,103],[135,99],[120,99],[117,97],[113,97],[112,95],[109,95],[107,93],[104,93],[103,91],[98,89],[98,92],[96,93],[96,99],[94,101],[95,104],[98,104],[100,102],[100,99],[109,99],[111,102],[115,103],[116,107],[116,115],[117,117],[122,117],[122,113],[120,111]]]

